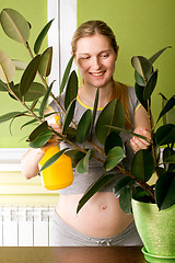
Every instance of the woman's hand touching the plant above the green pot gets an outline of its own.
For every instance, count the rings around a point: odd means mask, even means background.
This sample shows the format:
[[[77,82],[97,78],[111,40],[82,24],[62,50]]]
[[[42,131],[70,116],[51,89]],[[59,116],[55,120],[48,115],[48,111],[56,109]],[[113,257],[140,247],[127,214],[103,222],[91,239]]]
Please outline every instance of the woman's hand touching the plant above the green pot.
[[[148,140],[151,142],[151,134],[150,132],[145,128],[145,127],[137,127],[135,130],[133,130],[135,134],[138,134],[138,135],[142,135],[144,137],[148,138]],[[144,139],[141,139],[139,137],[136,137],[133,136],[131,139],[130,139],[130,146],[132,148],[132,150],[135,152],[141,150],[141,149],[148,149],[148,147],[150,146],[150,142],[144,140]]]

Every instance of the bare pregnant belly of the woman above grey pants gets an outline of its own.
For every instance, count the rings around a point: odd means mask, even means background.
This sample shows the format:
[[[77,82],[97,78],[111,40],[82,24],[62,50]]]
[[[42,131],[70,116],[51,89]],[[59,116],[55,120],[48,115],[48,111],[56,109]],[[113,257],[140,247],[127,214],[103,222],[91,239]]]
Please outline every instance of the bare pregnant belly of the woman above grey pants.
[[[80,232],[105,238],[122,232],[132,221],[132,215],[125,214],[119,201],[110,192],[96,193],[77,215],[81,194],[60,195],[56,211],[59,217]]]

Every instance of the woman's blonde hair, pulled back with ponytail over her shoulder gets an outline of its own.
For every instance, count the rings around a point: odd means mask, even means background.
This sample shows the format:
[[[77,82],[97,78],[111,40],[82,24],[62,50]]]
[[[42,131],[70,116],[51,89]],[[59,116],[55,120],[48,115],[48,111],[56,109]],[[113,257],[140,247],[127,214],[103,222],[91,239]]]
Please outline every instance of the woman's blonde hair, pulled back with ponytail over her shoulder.
[[[112,45],[114,52],[117,54],[118,47],[116,37],[112,28],[103,21],[100,20],[91,20],[83,24],[81,24],[73,34],[71,47],[72,55],[75,56],[77,53],[77,43],[80,38],[93,36],[95,34],[104,35],[108,38],[109,44]],[[127,129],[132,128],[132,124],[129,115],[129,98],[128,98],[128,87],[113,80],[113,94],[110,100],[118,99],[121,101],[124,110],[125,110],[125,127]]]

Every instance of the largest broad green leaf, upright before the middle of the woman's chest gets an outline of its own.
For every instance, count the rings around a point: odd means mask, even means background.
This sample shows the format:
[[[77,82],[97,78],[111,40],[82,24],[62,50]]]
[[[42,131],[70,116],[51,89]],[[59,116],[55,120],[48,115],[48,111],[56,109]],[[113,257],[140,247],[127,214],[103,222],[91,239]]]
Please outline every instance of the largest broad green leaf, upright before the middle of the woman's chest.
[[[98,141],[104,145],[106,137],[112,132],[108,126],[122,127],[125,124],[125,112],[120,101],[110,101],[101,112],[95,126],[95,134]]]

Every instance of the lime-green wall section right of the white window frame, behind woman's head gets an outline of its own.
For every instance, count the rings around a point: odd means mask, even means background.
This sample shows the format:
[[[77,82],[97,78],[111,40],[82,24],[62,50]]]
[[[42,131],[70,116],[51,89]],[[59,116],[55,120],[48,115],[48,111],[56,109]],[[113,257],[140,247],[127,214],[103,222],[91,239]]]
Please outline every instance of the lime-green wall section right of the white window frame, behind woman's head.
[[[78,24],[88,20],[103,20],[115,32],[119,57],[115,79],[133,85],[132,56],[151,57],[172,46],[155,62],[159,81],[153,96],[153,115],[161,108],[159,92],[167,98],[175,90],[175,0],[78,0]]]

